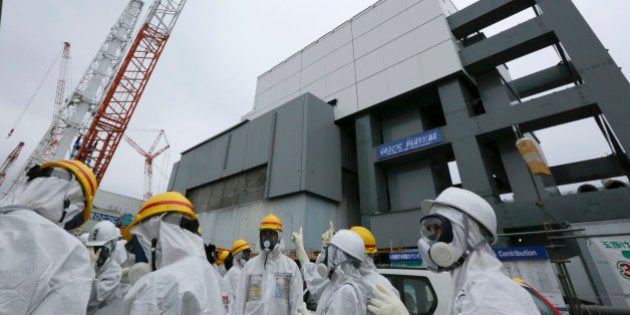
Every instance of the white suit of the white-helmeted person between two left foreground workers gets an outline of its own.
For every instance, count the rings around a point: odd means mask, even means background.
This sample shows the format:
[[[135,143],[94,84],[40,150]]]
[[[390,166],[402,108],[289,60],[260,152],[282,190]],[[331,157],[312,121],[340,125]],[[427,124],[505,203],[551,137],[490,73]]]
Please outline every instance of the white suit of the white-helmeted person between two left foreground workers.
[[[96,269],[96,278],[92,282],[92,292],[88,302],[88,314],[95,314],[97,310],[109,304],[118,304],[118,291],[122,268],[111,257],[100,268]]]

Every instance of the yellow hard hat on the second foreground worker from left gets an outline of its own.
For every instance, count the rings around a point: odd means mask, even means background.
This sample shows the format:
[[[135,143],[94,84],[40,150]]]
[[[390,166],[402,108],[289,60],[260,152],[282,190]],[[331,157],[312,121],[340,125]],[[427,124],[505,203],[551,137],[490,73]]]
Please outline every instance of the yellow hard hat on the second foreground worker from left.
[[[136,224],[156,214],[165,212],[177,212],[190,219],[197,220],[197,215],[190,200],[176,191],[169,191],[155,195],[147,200],[138,211],[138,215],[133,219],[133,222],[129,224],[127,230],[131,231]]]

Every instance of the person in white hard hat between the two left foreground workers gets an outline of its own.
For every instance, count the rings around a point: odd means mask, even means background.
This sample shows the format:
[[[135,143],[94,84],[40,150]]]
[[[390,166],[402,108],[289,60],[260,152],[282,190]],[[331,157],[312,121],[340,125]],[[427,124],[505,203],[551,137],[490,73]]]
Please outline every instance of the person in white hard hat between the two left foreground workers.
[[[114,223],[101,221],[94,225],[85,243],[90,251],[92,268],[96,272],[88,302],[88,314],[94,314],[108,304],[115,303],[118,297],[122,268],[111,254],[116,249],[119,237],[120,231]]]

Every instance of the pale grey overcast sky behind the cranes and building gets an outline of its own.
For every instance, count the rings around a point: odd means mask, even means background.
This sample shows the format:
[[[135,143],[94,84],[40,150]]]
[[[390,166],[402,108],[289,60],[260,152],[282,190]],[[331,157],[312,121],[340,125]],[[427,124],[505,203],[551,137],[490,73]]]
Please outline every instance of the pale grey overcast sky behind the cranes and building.
[[[395,1],[395,0],[394,0]],[[253,107],[256,78],[293,53],[315,41],[374,0],[189,0],[142,96],[128,135],[145,149],[164,129],[171,145],[170,163],[180,153],[240,122]],[[458,8],[473,0],[455,0]],[[151,1],[147,1],[145,11]],[[575,0],[604,46],[626,77],[630,72],[628,0]],[[58,74],[51,74],[15,127],[20,113],[39,82],[59,55],[62,43],[71,43],[72,87],[79,81],[109,28],[126,6],[126,0],[5,0],[0,25],[0,162],[25,141],[20,159],[9,172],[11,180],[47,130]],[[144,18],[144,12],[142,20]],[[540,58],[541,64],[545,62]],[[519,76],[519,66],[511,69]],[[523,70],[526,71],[526,70]],[[592,138],[583,153],[562,155],[543,148],[551,164],[607,154],[592,124],[575,128],[575,137]],[[582,125],[580,125],[582,126]],[[587,128],[590,126],[589,128]],[[565,128],[566,129],[566,128]],[[571,131],[573,132],[573,131]],[[555,143],[567,139],[566,130],[541,131]],[[583,134],[579,134],[583,133]],[[163,142],[162,142],[163,144]],[[557,152],[557,153],[556,153]],[[609,151],[608,151],[609,152]],[[163,164],[163,161],[157,164]],[[159,165],[158,165],[159,166]],[[121,142],[101,188],[131,197],[143,194],[143,158]],[[164,189],[167,175],[155,170],[154,182]],[[169,173],[170,165],[161,172]],[[0,187],[0,190],[8,186]]]

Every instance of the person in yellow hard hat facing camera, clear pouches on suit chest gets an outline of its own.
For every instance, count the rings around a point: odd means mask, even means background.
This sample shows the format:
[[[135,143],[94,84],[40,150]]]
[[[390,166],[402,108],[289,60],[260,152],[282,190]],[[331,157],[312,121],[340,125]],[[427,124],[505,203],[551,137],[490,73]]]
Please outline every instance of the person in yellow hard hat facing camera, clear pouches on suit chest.
[[[282,254],[282,221],[270,214],[259,232],[261,253],[243,267],[235,314],[293,315],[302,304],[302,276],[297,264]]]

